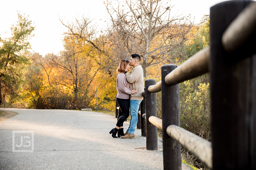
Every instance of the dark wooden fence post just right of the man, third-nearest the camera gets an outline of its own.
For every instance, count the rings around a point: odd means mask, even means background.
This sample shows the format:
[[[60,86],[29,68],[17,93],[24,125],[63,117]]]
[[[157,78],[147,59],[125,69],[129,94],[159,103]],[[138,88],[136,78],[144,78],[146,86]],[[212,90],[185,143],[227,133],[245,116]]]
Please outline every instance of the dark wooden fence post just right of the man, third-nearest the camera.
[[[156,80],[145,80],[145,98],[146,98],[146,148],[147,150],[158,150],[157,127],[148,120],[150,116],[157,117],[157,93],[150,93],[148,87],[155,85]]]

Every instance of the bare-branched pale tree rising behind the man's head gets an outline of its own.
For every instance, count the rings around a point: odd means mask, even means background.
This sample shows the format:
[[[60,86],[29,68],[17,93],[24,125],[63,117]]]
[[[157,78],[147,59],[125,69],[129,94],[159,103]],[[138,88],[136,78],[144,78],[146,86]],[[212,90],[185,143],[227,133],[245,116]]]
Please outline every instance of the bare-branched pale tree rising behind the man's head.
[[[162,61],[171,63],[173,51],[181,51],[188,41],[188,32],[193,23],[185,17],[171,16],[172,7],[160,0],[106,2],[112,20],[108,29],[117,55],[130,56],[139,53],[143,57],[141,65],[144,77],[147,68]]]

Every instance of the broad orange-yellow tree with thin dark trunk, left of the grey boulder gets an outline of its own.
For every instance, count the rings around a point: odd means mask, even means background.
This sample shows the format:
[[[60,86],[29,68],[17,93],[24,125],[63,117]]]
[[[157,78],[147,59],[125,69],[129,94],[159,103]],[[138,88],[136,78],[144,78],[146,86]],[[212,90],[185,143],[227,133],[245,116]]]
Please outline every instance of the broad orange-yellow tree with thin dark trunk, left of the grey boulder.
[[[70,107],[87,107],[95,96],[92,86],[95,85],[96,75],[101,70],[99,58],[93,54],[94,47],[78,41],[74,35],[66,36],[63,41],[65,50],[60,54],[47,54],[45,57],[34,54],[33,61],[41,66],[41,73],[44,75],[42,77],[48,81],[45,86],[49,91],[58,94],[62,91],[61,97],[65,99],[72,96],[72,100],[68,100]],[[38,89],[35,83],[31,85],[34,87],[30,89]],[[56,95],[50,95],[50,97],[56,97]],[[48,102],[49,105],[52,103],[52,101]],[[52,106],[49,105],[47,107],[51,108]],[[60,107],[68,108],[63,105]]]

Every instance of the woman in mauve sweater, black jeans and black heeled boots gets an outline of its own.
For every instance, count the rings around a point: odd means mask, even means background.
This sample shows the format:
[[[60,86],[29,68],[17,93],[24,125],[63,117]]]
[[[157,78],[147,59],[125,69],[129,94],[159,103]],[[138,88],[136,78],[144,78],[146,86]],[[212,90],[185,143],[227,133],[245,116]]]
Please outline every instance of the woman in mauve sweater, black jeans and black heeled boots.
[[[130,90],[130,83],[126,80],[125,69],[130,70],[130,61],[122,59],[116,69],[116,101],[119,104],[119,112],[117,117],[116,127],[113,128],[109,133],[112,133],[113,138],[125,136],[123,123],[130,114],[130,95],[135,94],[138,90]],[[117,133],[117,136],[116,136]]]

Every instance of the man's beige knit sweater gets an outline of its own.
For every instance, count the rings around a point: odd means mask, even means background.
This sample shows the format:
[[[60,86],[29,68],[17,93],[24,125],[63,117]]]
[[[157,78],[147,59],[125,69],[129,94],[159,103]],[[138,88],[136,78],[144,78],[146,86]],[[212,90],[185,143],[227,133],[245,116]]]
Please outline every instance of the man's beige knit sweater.
[[[130,90],[135,89],[139,92],[136,94],[131,94],[130,100],[143,100],[142,93],[144,91],[144,80],[143,80],[143,69],[141,65],[137,65],[133,68],[131,74],[127,72],[126,79],[130,84]]]

